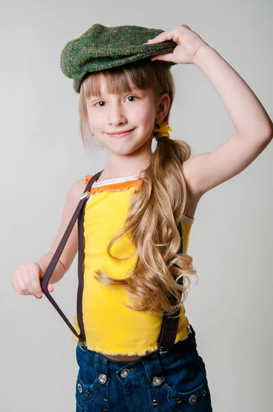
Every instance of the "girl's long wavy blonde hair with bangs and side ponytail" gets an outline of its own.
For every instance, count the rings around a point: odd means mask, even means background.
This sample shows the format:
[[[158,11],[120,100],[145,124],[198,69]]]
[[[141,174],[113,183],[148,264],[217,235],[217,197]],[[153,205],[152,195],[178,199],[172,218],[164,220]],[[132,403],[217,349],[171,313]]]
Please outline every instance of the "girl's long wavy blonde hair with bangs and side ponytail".
[[[171,102],[163,120],[169,119],[175,88],[170,67],[165,62],[142,60],[103,73],[87,73],[80,87],[79,106],[84,144],[88,139],[86,129],[89,130],[86,98],[99,94],[100,76],[105,76],[109,93],[130,92],[130,84],[138,89],[152,88],[155,102],[163,93],[169,93]],[[154,137],[156,135],[154,133]],[[115,262],[130,259],[133,253],[126,258],[116,258],[110,253],[119,239],[128,236],[136,250],[132,272],[125,279],[115,279],[101,270],[95,271],[97,281],[124,286],[132,302],[132,306],[125,305],[132,310],[149,310],[162,315],[163,312],[175,312],[187,299],[187,289],[191,288],[189,275],[195,275],[196,271],[191,256],[178,253],[181,238],[177,225],[189,202],[182,174],[182,163],[189,157],[191,148],[186,141],[167,137],[158,139],[152,161],[145,169],[143,183],[132,190],[123,229],[110,240],[107,248],[108,255]],[[170,304],[170,295],[174,305]]]

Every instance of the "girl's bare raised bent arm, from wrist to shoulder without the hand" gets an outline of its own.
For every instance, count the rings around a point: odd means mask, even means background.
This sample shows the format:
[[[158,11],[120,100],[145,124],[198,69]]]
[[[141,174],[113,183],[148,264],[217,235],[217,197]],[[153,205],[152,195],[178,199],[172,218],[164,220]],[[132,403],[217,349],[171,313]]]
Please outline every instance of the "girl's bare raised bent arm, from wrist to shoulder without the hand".
[[[273,126],[248,84],[215,49],[200,47],[193,64],[217,91],[236,130],[217,148],[191,157],[182,166],[191,192],[200,197],[247,168],[272,140]]]

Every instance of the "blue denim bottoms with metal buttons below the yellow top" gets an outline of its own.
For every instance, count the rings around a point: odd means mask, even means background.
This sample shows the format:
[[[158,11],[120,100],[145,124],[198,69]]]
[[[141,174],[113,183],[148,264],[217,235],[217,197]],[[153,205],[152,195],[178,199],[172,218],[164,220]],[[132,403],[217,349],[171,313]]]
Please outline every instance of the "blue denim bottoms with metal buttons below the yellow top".
[[[77,345],[76,412],[212,412],[195,332],[134,362],[112,361]]]

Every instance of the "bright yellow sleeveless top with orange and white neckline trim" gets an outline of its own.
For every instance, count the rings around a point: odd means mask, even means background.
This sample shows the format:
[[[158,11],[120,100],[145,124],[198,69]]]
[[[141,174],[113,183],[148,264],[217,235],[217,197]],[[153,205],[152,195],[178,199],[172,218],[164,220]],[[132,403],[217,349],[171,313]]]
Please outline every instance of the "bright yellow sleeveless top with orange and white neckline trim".
[[[86,184],[91,175],[86,176]],[[107,254],[108,242],[123,227],[134,185],[141,184],[139,175],[102,182],[91,187],[91,196],[84,209],[84,291],[82,312],[86,346],[104,354],[143,355],[156,350],[162,317],[152,312],[137,312],[126,308],[130,301],[123,286],[104,285],[93,275],[101,268],[109,275],[124,278],[134,265],[134,255],[126,262],[114,262]],[[183,251],[187,253],[193,219],[183,216]],[[132,243],[123,238],[111,253],[125,258],[132,253]],[[80,334],[77,316],[74,328]],[[187,338],[189,321],[185,308],[180,310],[176,342]],[[73,339],[78,337],[72,334]]]

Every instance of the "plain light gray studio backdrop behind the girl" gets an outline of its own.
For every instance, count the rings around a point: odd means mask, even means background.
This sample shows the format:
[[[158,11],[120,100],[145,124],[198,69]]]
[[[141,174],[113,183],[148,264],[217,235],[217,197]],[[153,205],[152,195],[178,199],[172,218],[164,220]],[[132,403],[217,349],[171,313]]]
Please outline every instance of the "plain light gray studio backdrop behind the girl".
[[[1,411],[75,411],[76,342],[47,298],[21,296],[12,275],[49,251],[69,187],[106,166],[86,152],[78,95],[60,52],[94,23],[169,30],[186,23],[249,84],[273,117],[270,1],[1,1]],[[172,136],[193,155],[235,132],[194,65],[172,68]],[[185,302],[215,412],[272,411],[273,144],[201,199],[189,240],[199,282]],[[55,284],[70,321],[77,258]],[[99,310],[99,308],[98,308]]]

